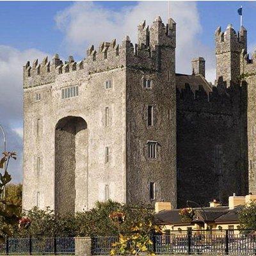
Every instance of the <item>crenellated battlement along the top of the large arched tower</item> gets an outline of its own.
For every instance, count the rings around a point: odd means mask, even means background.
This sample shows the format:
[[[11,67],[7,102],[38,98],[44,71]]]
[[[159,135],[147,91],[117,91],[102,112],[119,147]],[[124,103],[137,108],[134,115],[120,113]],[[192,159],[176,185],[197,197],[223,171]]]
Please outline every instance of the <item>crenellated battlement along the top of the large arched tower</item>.
[[[150,28],[146,27],[145,21],[138,26],[139,44],[133,45],[129,36],[125,36],[121,44],[116,44],[114,39],[100,43],[98,48],[91,45],[86,51],[86,58],[79,62],[72,56],[62,61],[58,54],[52,61],[47,57],[41,63],[33,61],[32,65],[28,61],[23,69],[24,88],[54,83],[57,76],[74,72],[87,76],[121,67],[159,70],[159,47],[175,49],[175,34],[176,24],[172,19],[164,25],[161,17],[157,17]]]

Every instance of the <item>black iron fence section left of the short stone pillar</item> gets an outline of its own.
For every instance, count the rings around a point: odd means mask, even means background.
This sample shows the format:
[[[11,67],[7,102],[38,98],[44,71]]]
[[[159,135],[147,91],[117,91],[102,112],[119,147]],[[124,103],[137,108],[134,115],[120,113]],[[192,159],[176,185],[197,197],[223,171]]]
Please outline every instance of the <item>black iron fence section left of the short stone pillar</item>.
[[[8,238],[0,243],[0,254],[74,254],[74,237]]]

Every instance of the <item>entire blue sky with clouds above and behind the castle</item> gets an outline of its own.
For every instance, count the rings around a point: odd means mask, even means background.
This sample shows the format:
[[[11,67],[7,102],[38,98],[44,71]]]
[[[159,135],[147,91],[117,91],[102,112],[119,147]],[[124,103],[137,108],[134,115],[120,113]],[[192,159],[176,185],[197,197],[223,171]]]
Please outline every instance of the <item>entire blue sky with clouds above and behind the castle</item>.
[[[243,6],[243,25],[248,30],[248,50],[256,47],[255,1],[172,1],[171,16],[177,23],[177,72],[191,73],[190,61],[202,56],[206,76],[214,81],[214,31],[240,26],[237,8]],[[86,49],[102,41],[118,42],[125,35],[136,43],[137,26],[150,25],[160,15],[168,18],[167,1],[0,1],[0,123],[6,131],[7,148],[15,150],[10,163],[13,182],[22,181],[22,66],[26,61],[55,53],[76,61]],[[254,18],[254,19],[253,19]],[[0,134],[0,150],[3,151]]]

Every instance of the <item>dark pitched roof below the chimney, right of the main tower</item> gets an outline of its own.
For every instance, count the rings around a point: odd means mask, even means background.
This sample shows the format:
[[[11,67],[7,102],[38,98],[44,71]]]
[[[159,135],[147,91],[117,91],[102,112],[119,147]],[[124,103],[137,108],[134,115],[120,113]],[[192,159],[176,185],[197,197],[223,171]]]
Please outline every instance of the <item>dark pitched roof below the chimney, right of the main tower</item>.
[[[189,84],[191,91],[194,93],[196,90],[199,90],[200,87],[202,87],[207,94],[212,92],[212,86],[206,81],[204,76],[176,74],[176,88],[181,91],[186,88],[186,84]]]

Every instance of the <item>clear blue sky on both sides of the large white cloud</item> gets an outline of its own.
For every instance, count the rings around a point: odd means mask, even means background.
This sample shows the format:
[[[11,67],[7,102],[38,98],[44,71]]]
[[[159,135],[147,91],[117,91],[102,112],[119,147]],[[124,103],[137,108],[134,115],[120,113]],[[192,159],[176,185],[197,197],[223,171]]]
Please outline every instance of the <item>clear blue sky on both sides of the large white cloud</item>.
[[[54,17],[56,13],[72,4],[74,2],[71,1],[1,2],[0,44],[20,50],[36,48],[51,54],[63,52],[61,47],[63,33],[56,28]],[[124,6],[135,6],[138,1],[98,1],[95,4],[118,11]],[[256,38],[253,37],[256,32],[256,22],[253,22],[253,15],[256,12],[254,1],[198,1],[196,5],[202,24],[202,33],[199,36],[205,44],[214,47],[212,35],[219,24],[225,28],[228,23],[232,23],[235,28],[239,28],[237,8],[241,5],[243,5],[244,26],[249,31],[248,41],[256,42]]]

